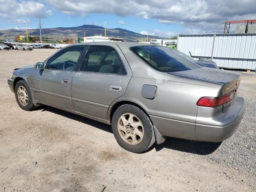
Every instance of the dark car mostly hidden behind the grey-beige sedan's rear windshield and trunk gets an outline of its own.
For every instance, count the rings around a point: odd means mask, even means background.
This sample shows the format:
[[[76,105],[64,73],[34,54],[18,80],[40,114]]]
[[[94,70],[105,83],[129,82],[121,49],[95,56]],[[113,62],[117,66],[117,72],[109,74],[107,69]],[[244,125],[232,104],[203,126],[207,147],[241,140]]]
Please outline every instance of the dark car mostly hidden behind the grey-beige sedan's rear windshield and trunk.
[[[217,64],[210,60],[210,59],[207,59],[207,58],[203,58],[203,57],[200,57],[198,58],[198,60],[192,58],[192,56],[188,56],[187,54],[184,54],[183,52],[180,52],[176,49],[173,49],[173,48],[170,48],[170,50],[174,51],[174,52],[178,52],[178,54],[180,54],[181,56],[183,56],[184,58],[198,64],[199,66],[201,67],[210,67],[210,68],[216,68],[216,69],[219,69],[219,67],[217,66]]]

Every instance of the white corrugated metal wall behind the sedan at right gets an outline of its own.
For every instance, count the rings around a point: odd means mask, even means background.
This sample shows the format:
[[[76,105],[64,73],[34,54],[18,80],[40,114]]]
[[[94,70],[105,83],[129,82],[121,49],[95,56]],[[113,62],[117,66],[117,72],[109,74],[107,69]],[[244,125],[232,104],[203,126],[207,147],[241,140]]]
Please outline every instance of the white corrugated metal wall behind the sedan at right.
[[[178,35],[177,49],[219,67],[256,70],[256,34]]]

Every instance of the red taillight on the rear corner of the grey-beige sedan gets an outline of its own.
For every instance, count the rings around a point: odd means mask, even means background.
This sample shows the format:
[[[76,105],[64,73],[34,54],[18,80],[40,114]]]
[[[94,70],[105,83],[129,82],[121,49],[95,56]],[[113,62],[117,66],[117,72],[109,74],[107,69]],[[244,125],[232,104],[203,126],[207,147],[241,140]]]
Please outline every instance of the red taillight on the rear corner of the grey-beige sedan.
[[[231,92],[221,97],[201,97],[196,104],[203,107],[218,107],[230,102],[233,99],[233,95],[233,92]]]

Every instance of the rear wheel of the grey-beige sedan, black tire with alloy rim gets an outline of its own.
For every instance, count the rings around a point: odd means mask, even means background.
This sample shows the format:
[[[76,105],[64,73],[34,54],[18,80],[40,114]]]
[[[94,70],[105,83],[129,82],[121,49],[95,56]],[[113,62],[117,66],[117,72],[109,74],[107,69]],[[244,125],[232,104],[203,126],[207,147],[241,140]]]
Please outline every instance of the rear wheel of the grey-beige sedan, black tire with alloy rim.
[[[130,117],[132,121],[129,121]],[[131,122],[130,126],[129,122]],[[136,126],[136,124],[142,126]],[[137,134],[138,130],[141,136]],[[133,153],[148,150],[156,141],[153,124],[149,117],[140,108],[131,104],[124,104],[116,109],[112,118],[112,131],[117,143]]]

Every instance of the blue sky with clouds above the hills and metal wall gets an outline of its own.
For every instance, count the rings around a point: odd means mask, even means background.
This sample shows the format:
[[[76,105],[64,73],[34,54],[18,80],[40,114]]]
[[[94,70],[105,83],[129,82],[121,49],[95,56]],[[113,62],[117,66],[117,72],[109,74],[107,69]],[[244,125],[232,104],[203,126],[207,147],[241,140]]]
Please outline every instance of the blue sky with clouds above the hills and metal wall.
[[[225,21],[256,19],[255,0],[0,0],[0,30],[92,24],[141,34],[223,33]],[[234,31],[234,25],[231,31]]]

